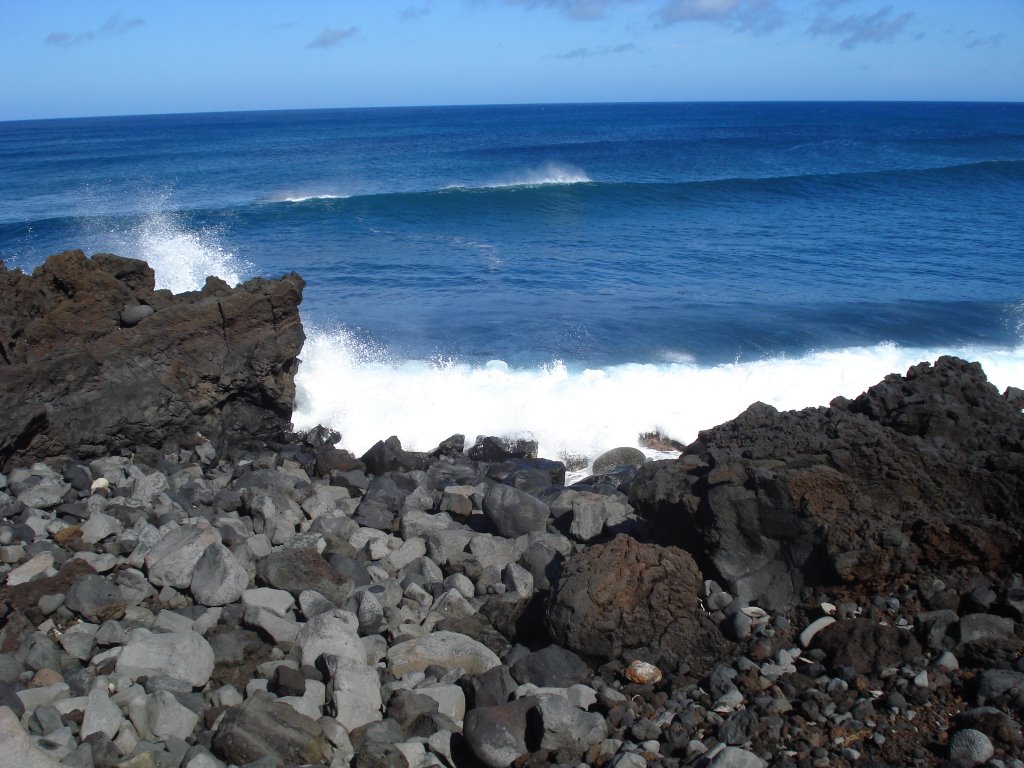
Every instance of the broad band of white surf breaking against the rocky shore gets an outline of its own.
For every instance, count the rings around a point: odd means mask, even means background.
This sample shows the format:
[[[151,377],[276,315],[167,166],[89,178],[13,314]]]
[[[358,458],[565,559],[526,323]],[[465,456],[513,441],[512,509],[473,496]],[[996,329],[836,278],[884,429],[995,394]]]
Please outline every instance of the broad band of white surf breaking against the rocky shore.
[[[542,456],[595,457],[634,445],[660,430],[689,442],[698,430],[735,417],[757,400],[780,410],[825,406],[855,396],[890,373],[955,353],[982,362],[999,389],[1024,384],[1024,347],[908,349],[894,344],[815,352],[799,358],[700,367],[692,362],[571,370],[561,362],[514,370],[392,360],[344,332],[308,332],[296,384],[294,421],[342,433],[356,455],[397,435],[412,450],[430,450],[453,432],[531,435]]]

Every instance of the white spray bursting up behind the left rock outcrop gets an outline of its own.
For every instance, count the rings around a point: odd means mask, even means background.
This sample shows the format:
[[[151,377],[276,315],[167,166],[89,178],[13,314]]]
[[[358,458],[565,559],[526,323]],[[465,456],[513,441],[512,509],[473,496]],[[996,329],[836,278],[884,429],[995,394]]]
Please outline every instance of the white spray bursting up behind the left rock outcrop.
[[[152,213],[135,225],[110,232],[112,250],[144,259],[157,274],[157,288],[173,293],[198,291],[215,274],[234,286],[253,271],[251,264],[220,245],[216,232],[190,228],[172,213]]]

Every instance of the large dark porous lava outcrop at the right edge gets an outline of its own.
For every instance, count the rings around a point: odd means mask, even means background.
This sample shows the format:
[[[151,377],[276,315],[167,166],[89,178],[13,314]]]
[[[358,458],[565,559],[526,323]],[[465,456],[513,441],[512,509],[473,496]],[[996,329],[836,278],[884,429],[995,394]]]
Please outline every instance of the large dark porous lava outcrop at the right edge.
[[[1019,570],[1022,500],[1020,409],[978,364],[948,356],[828,408],[755,403],[631,486],[660,540],[768,608],[805,586]]]

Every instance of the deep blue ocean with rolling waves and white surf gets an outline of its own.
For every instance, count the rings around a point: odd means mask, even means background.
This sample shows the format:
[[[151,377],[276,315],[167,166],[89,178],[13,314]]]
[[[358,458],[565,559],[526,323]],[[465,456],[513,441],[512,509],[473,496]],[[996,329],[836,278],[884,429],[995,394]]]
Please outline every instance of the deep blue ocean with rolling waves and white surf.
[[[616,103],[0,123],[0,258],[308,287],[298,428],[550,458],[921,360],[1024,386],[1024,104]]]

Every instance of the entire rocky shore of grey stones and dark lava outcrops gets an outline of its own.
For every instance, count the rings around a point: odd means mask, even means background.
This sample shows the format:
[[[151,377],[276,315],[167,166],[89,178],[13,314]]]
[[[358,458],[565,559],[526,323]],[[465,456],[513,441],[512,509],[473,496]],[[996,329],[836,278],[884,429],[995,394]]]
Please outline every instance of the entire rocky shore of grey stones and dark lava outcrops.
[[[301,290],[0,269],[0,768],[1024,766],[1020,390],[356,458]]]

